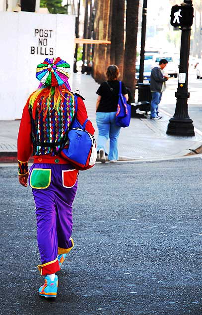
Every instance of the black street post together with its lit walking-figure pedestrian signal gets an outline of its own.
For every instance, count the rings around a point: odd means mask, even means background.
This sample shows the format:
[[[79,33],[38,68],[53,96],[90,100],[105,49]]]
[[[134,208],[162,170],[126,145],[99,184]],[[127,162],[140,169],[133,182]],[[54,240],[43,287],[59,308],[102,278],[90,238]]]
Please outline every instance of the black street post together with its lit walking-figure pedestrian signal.
[[[177,14],[177,15],[176,15]],[[194,136],[194,125],[188,114],[187,100],[190,97],[188,92],[188,67],[190,54],[190,32],[193,23],[192,0],[184,0],[179,5],[172,7],[171,25],[179,26],[182,30],[180,48],[180,67],[178,89],[175,93],[177,98],[175,114],[169,120],[167,134],[178,136]]]

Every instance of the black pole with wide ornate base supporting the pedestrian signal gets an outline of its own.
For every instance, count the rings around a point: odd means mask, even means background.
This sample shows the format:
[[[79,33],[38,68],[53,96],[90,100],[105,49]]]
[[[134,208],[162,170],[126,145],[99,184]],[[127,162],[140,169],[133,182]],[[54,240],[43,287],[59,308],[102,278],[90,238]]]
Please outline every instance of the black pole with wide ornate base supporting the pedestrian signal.
[[[192,0],[184,0],[182,6],[186,6],[186,9],[192,11]],[[183,14],[183,10],[182,13]],[[172,15],[171,15],[172,18]],[[192,17],[193,19],[193,17]],[[172,24],[172,23],[171,23]],[[176,26],[176,25],[173,25]],[[190,97],[188,92],[188,68],[189,68],[189,54],[190,54],[190,33],[191,26],[181,25],[181,48],[180,48],[180,67],[179,67],[179,81],[178,89],[175,93],[177,98],[175,114],[169,120],[167,134],[178,136],[195,136],[194,125],[192,119],[188,114],[187,100]]]

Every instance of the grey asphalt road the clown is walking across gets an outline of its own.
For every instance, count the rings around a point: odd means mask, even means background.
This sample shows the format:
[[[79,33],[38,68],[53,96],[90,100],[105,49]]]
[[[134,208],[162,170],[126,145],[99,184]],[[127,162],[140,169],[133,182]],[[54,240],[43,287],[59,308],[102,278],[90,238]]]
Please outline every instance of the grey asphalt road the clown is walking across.
[[[80,172],[75,247],[55,300],[38,296],[34,203],[0,167],[0,314],[201,315],[202,159],[97,164]]]

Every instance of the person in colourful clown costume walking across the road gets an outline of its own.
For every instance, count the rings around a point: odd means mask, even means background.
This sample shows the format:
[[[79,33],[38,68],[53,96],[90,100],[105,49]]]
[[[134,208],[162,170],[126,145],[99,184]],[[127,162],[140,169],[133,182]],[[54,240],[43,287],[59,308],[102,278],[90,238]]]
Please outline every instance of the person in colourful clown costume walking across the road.
[[[72,203],[78,170],[60,155],[75,115],[74,94],[68,84],[69,64],[61,58],[45,59],[37,66],[39,88],[28,98],[18,133],[19,183],[32,188],[36,206],[37,242],[41,257],[38,269],[45,276],[39,295],[56,298],[58,276],[67,253],[73,248]],[[77,119],[87,119],[83,98],[77,94]],[[94,134],[88,120],[86,130]],[[28,159],[34,163],[28,170]],[[29,177],[29,178],[28,178]]]

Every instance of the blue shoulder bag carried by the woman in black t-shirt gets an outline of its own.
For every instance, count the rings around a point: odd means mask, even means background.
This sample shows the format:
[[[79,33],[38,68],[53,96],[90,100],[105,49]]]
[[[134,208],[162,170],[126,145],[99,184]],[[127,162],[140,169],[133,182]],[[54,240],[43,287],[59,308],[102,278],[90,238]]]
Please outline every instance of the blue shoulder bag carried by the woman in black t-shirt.
[[[119,127],[128,127],[131,121],[131,105],[122,94],[122,81],[119,81],[119,101],[115,122]]]

